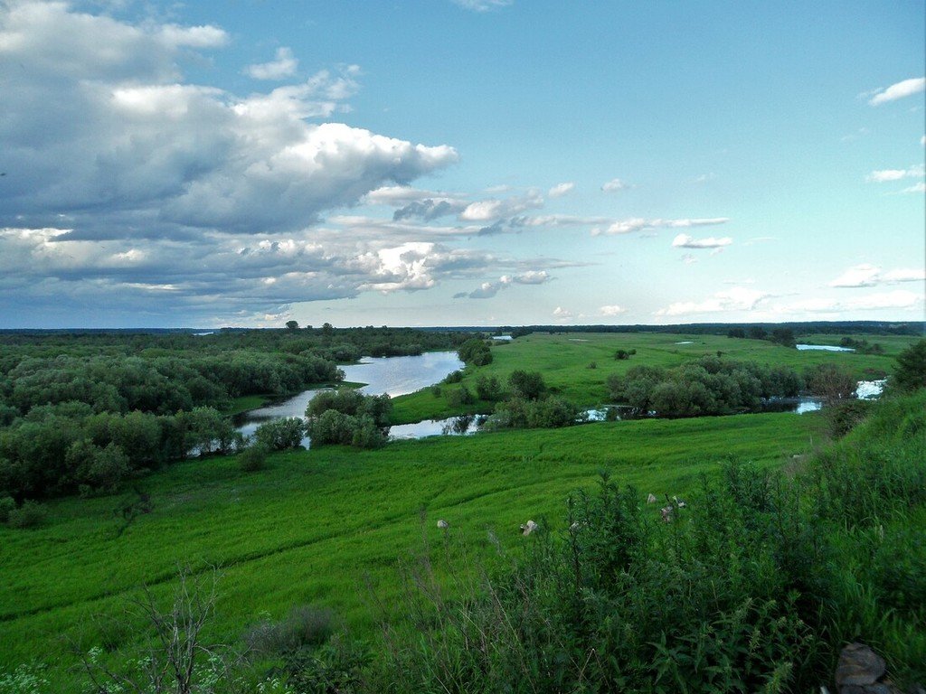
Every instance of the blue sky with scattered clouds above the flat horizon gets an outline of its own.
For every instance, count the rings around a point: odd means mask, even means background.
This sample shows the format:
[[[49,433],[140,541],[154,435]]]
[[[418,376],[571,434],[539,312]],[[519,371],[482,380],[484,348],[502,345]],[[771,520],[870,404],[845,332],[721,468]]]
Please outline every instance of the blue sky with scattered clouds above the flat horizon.
[[[0,328],[923,320],[924,26],[0,0]]]

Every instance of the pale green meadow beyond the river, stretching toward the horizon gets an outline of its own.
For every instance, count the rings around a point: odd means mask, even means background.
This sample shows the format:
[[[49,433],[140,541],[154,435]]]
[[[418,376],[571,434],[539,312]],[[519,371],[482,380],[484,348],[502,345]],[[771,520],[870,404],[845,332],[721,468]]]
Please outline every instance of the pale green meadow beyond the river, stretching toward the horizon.
[[[812,335],[800,341],[815,344],[838,345],[840,335]],[[890,373],[895,356],[917,337],[907,336],[850,336],[870,343],[878,342],[883,354],[798,352],[768,341],[732,339],[715,335],[685,335],[662,333],[533,333],[510,342],[499,341],[494,345],[493,363],[477,369],[467,369],[462,383],[475,392],[476,378],[485,374],[496,376],[502,381],[515,369],[540,371],[552,390],[582,405],[594,406],[608,402],[607,377],[624,374],[637,365],[678,366],[685,361],[705,354],[722,353],[724,357],[738,360],[752,360],[761,364],[792,366],[798,369],[816,364],[838,364],[849,369],[858,380]],[[680,344],[687,342],[686,344]],[[617,361],[614,353],[619,350],[636,350],[627,360]],[[594,364],[594,368],[591,365]],[[445,386],[444,390],[458,388]],[[469,412],[489,412],[491,403],[477,403]],[[458,414],[450,407],[445,393],[435,396],[431,390],[394,399],[393,420],[395,424],[415,422],[421,419],[443,418]]]

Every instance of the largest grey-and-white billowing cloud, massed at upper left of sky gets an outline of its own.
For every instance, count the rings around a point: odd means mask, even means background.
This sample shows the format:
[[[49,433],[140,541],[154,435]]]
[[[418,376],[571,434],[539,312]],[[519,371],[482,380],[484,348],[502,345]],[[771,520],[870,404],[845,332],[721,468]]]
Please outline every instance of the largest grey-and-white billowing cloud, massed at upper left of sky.
[[[65,3],[0,12],[0,224],[64,214],[99,229],[118,214],[129,223],[109,233],[298,229],[457,160],[449,146],[307,122],[342,107],[356,66],[244,98],[183,81],[189,51],[226,42],[216,27],[133,25]]]

